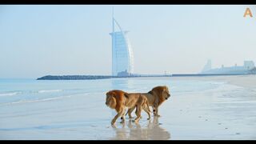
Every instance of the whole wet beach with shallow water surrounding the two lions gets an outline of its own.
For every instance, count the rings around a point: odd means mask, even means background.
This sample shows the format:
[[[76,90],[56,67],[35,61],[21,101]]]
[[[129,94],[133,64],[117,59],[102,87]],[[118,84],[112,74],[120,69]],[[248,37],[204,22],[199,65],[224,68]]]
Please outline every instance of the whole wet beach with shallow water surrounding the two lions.
[[[106,91],[170,88],[160,118],[111,126]],[[0,139],[256,139],[256,75],[0,82]],[[133,113],[135,116],[135,114]]]

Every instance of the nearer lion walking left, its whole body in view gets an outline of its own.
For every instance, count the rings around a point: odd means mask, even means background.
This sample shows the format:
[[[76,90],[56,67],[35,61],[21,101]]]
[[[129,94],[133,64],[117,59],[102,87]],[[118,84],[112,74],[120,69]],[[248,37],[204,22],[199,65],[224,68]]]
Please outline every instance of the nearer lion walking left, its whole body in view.
[[[147,98],[142,94],[128,94],[122,90],[110,90],[106,93],[106,106],[115,109],[118,114],[112,119],[111,124],[114,125],[118,117],[122,116],[122,122],[125,121],[126,107],[136,107],[135,114],[137,117],[134,122],[138,122],[141,118],[142,109],[146,111],[150,119],[150,107]]]

